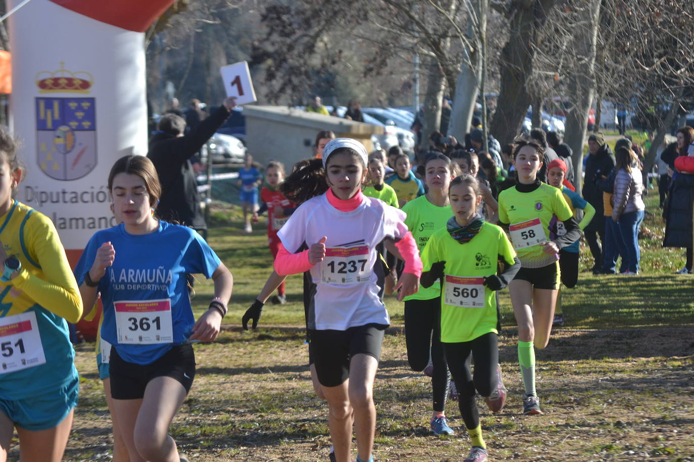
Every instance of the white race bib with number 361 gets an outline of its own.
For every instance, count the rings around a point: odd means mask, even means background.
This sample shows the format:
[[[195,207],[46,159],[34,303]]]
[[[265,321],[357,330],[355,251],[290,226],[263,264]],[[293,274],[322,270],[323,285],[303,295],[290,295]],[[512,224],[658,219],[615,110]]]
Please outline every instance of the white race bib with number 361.
[[[170,344],[174,341],[171,300],[115,301],[119,344]]]

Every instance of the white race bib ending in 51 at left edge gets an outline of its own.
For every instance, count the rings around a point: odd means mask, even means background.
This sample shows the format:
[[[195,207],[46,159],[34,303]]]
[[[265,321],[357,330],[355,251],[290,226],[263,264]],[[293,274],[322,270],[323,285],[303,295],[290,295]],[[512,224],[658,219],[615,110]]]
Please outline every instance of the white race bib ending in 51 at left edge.
[[[0,318],[0,374],[46,363],[36,313]]]

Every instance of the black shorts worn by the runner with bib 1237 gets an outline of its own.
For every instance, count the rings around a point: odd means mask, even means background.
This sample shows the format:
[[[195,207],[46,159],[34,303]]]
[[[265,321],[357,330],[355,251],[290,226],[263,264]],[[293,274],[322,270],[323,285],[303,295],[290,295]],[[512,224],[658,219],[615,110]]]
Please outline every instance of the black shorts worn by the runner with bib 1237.
[[[379,361],[385,329],[382,324],[366,324],[347,330],[311,330],[310,357],[323,387],[337,387],[349,378],[354,355],[369,355]]]

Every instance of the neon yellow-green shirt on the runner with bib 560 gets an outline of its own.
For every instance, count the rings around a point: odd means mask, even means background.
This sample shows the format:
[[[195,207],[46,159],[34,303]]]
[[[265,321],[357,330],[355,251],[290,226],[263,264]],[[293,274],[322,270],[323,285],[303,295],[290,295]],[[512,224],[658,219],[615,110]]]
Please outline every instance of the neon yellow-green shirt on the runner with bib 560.
[[[516,252],[504,231],[496,224],[484,223],[477,236],[461,244],[450,237],[447,229],[439,229],[429,238],[422,252],[423,271],[433,263],[446,261],[445,281],[441,291],[441,341],[471,341],[496,330],[496,297],[482,284],[484,276],[496,274],[498,260],[513,265]],[[473,292],[477,290],[477,292]],[[461,295],[462,294],[462,295]],[[474,308],[450,304],[462,297],[481,302]],[[478,302],[478,303],[479,303]]]

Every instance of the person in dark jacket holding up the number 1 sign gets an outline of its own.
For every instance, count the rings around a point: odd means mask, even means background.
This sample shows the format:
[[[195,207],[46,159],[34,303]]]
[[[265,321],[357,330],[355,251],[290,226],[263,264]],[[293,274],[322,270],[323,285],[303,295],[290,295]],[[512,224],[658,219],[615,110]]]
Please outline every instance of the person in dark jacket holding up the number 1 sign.
[[[226,98],[208,118],[185,136],[185,121],[175,114],[165,114],[149,139],[147,157],[154,163],[162,184],[162,197],[157,206],[157,215],[162,220],[176,220],[192,226],[203,236],[207,224],[200,208],[198,185],[190,158],[203,147],[210,136],[226,121],[234,98]]]

